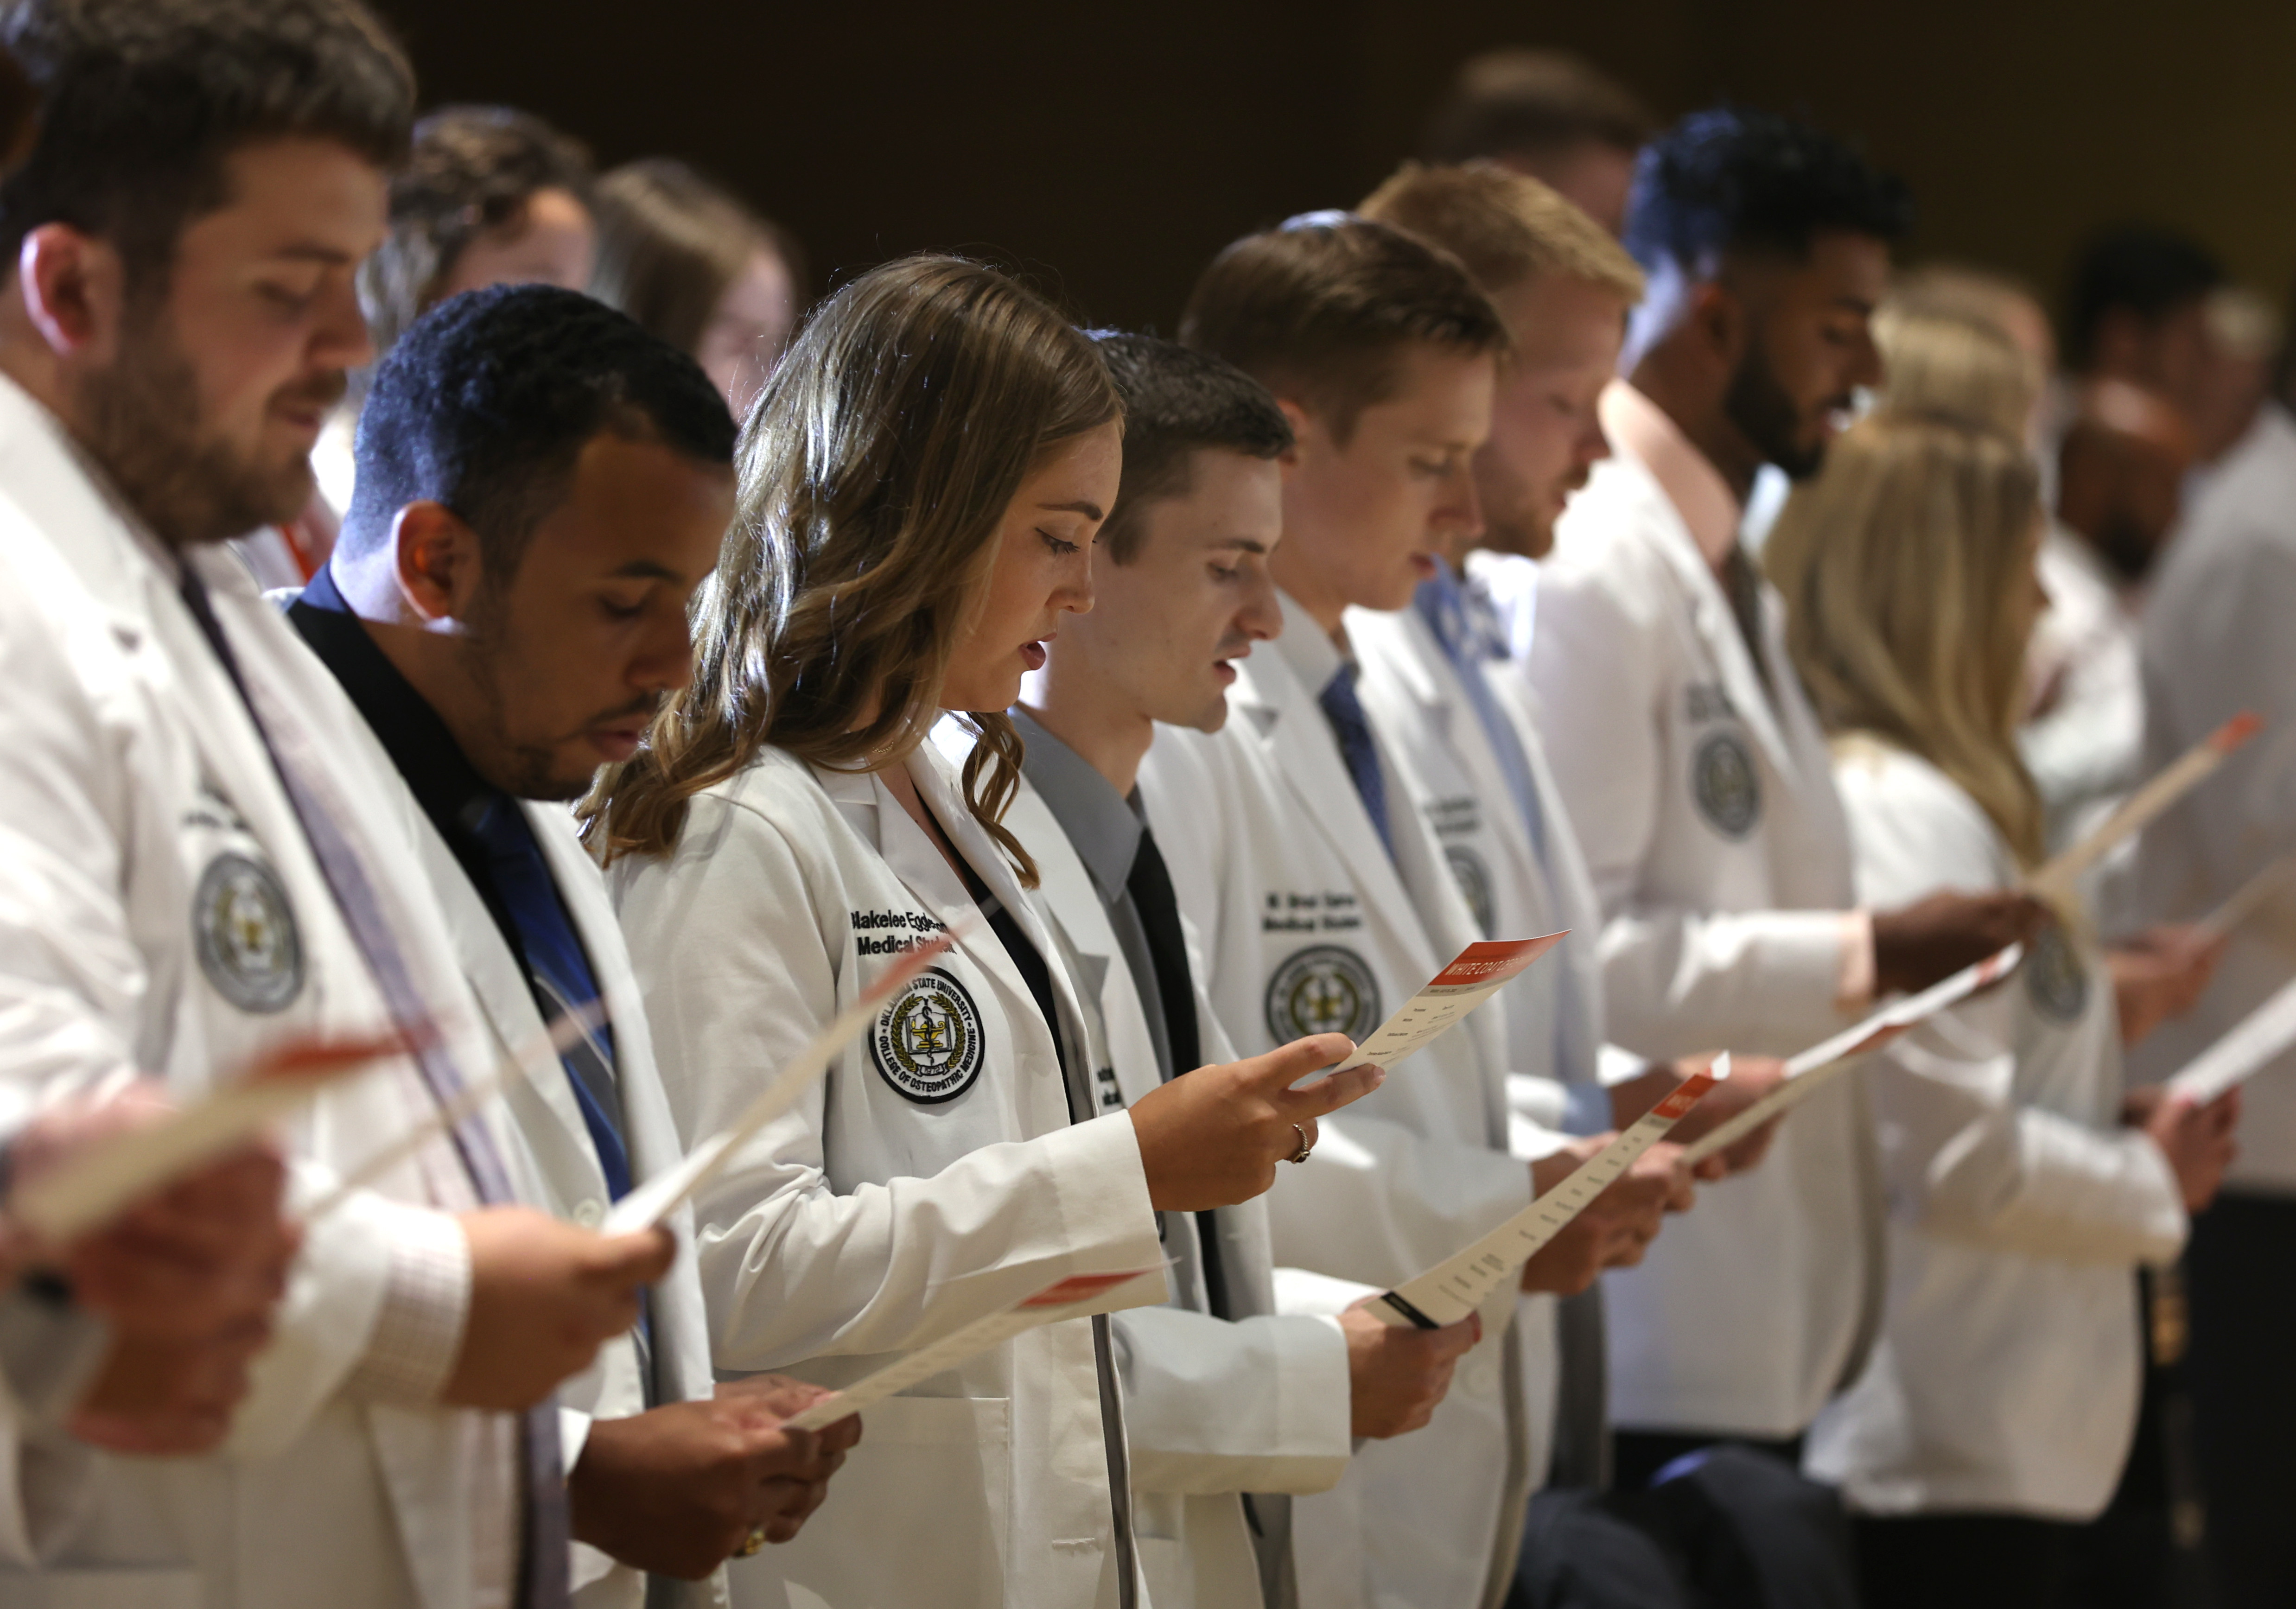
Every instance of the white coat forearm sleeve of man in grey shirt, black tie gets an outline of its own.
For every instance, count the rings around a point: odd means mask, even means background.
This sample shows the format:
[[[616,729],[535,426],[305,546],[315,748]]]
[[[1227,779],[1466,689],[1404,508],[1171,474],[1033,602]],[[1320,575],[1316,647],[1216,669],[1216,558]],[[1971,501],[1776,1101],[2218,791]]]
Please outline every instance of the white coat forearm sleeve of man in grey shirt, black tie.
[[[1116,1313],[1132,1483],[1143,1492],[1327,1492],[1348,1471],[1348,1338],[1327,1317]]]

